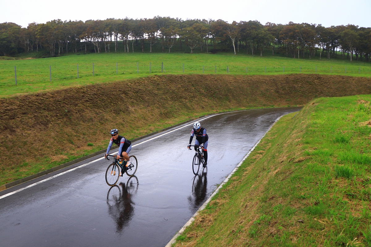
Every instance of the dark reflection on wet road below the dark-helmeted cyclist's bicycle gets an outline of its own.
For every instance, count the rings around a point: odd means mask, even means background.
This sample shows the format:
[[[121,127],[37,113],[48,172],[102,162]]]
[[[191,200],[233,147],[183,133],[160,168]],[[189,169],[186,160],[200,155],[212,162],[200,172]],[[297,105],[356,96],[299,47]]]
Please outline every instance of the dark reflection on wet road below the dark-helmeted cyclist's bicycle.
[[[116,232],[121,231],[129,225],[134,215],[134,202],[132,196],[137,192],[138,179],[130,177],[127,184],[119,183],[113,186],[107,193],[108,214],[116,223]]]

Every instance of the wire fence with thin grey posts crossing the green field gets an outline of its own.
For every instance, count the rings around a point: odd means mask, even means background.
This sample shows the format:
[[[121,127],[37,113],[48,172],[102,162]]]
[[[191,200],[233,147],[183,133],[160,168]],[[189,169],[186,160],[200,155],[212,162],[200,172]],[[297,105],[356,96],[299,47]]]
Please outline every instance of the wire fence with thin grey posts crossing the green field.
[[[253,66],[243,64],[164,63],[76,63],[0,68],[0,86],[16,86],[40,82],[58,82],[84,77],[122,76],[127,74],[290,74],[318,73],[349,76],[371,76],[368,66]]]

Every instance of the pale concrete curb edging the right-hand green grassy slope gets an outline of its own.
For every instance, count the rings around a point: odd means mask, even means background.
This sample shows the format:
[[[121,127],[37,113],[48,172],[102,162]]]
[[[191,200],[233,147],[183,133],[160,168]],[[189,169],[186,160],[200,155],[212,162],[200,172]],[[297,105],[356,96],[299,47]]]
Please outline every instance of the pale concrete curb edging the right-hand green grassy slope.
[[[277,123],[277,121],[280,120],[280,118],[283,117],[283,116],[285,116],[285,115],[282,115],[278,119],[276,119],[276,121],[272,124],[272,126],[270,126],[269,129],[264,133],[264,135],[262,136],[262,138],[260,138],[260,140],[257,141],[257,143],[255,144],[255,146],[253,146],[251,148],[251,150],[249,151],[249,153],[247,153],[246,156],[243,157],[243,159],[241,160],[241,162],[238,163],[238,165],[236,166],[236,168],[234,168],[233,171],[226,177],[226,179],[224,179],[224,181],[219,185],[219,187],[216,188],[216,190],[213,192],[213,194],[211,194],[211,196],[209,198],[207,198],[207,200],[201,205],[201,207],[198,208],[198,210],[196,211],[196,213],[194,213],[193,216],[187,221],[187,223],[185,223],[185,225],[182,228],[180,228],[180,230],[175,234],[175,236],[173,238],[171,238],[171,240],[169,241],[169,243],[167,243],[167,245],[165,247],[171,247],[171,245],[175,243],[176,238],[180,234],[183,233],[183,231],[185,230],[185,228],[187,228],[187,226],[189,226],[190,224],[192,224],[192,222],[195,220],[195,218],[198,215],[198,213],[201,210],[204,210],[204,208],[206,207],[206,205],[210,202],[211,198],[213,198],[216,195],[216,193],[218,193],[218,191],[220,190],[220,188],[223,187],[223,185],[227,183],[227,181],[229,180],[229,178],[232,177],[232,175],[242,165],[243,161],[246,160],[246,158],[250,155],[250,153],[255,149],[255,147],[257,146],[257,144],[259,144],[260,141],[265,137],[265,135],[268,133],[268,131],[271,130],[272,127]]]

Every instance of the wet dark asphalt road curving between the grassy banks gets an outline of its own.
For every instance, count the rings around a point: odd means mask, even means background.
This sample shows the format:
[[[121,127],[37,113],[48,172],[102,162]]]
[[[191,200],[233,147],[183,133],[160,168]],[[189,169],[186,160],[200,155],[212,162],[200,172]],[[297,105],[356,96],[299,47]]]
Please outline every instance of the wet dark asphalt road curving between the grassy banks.
[[[209,160],[198,176],[194,151],[187,150],[190,125],[133,147],[137,173],[124,174],[112,188],[103,159],[2,198],[0,246],[165,246],[274,121],[299,109],[202,120]]]

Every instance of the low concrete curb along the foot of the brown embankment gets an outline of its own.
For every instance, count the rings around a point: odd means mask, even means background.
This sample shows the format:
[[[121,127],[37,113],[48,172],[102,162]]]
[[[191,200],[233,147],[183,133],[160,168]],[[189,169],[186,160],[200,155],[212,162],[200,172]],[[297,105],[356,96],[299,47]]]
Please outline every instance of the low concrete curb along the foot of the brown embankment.
[[[273,108],[281,108],[281,107],[273,107]],[[264,109],[264,108],[257,108],[257,109],[249,109],[249,110],[258,110],[258,109]],[[241,111],[241,110],[236,110],[236,111]],[[197,119],[201,119],[203,117],[206,117],[206,116],[212,116],[212,115],[216,115],[216,114],[221,114],[221,113],[230,113],[230,112],[235,112],[235,111],[223,111],[223,112],[218,112],[218,113],[212,113],[212,114],[206,114],[206,115],[203,115],[203,116],[199,116],[199,117],[195,117],[193,119],[190,119],[190,120],[187,120],[187,121],[184,121],[182,123],[178,123],[178,124],[175,124],[173,126],[170,126],[170,127],[167,127],[167,128],[163,128],[162,130],[157,130],[155,132],[152,132],[150,134],[147,134],[147,135],[144,135],[144,136],[141,136],[141,137],[137,137],[137,138],[134,138],[132,140],[130,140],[132,143],[134,143],[135,141],[139,141],[139,140],[142,140],[144,138],[147,138],[147,137],[150,137],[150,136],[154,136],[155,134],[158,134],[158,133],[161,133],[161,132],[164,132],[164,131],[167,131],[167,130],[170,130],[171,128],[175,128],[175,127],[178,127],[178,126],[181,126],[183,124],[186,124],[186,123],[189,123],[189,122],[192,122],[194,120],[197,120]],[[112,148],[112,150],[114,150],[114,148]],[[30,181],[30,180],[33,180],[35,178],[38,178],[38,177],[41,177],[41,176],[44,176],[46,174],[49,174],[49,173],[52,173],[53,171],[57,171],[57,170],[60,170],[62,168],[65,168],[65,167],[68,167],[68,166],[72,166],[73,164],[76,164],[76,163],[79,163],[83,160],[86,160],[88,158],[91,158],[91,157],[94,157],[94,156],[97,156],[99,154],[104,154],[106,152],[106,149],[104,150],[101,150],[101,151],[97,151],[95,153],[92,153],[92,154],[89,154],[87,156],[84,156],[84,157],[81,157],[81,158],[78,158],[76,160],[72,160],[72,161],[69,161],[65,164],[61,164],[59,166],[56,166],[56,167],[53,167],[53,168],[50,168],[48,170],[45,170],[45,171],[40,171],[39,173],[36,173],[36,174],[33,174],[31,176],[28,176],[28,177],[24,177],[24,178],[21,178],[19,180],[16,180],[16,181],[13,181],[11,183],[7,183],[7,184],[4,184],[2,186],[0,186],[0,191],[3,191],[3,190],[6,190],[8,188],[11,188],[11,187],[14,187],[18,184],[22,184],[24,182],[27,182],[27,181]]]

